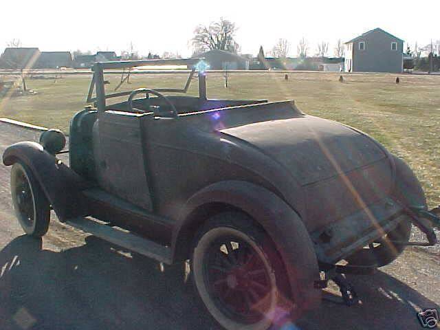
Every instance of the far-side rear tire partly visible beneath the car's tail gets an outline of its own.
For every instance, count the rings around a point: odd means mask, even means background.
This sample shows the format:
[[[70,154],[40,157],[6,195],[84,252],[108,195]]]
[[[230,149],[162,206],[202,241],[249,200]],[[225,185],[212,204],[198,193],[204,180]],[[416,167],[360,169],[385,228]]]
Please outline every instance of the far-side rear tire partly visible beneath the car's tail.
[[[374,248],[364,248],[355,252],[346,258],[349,265],[358,265],[366,267],[382,267],[392,263],[395,259],[404,252],[406,245],[391,243],[390,241],[408,242],[411,233],[411,223],[404,219],[394,230],[388,232],[382,237],[380,245]]]

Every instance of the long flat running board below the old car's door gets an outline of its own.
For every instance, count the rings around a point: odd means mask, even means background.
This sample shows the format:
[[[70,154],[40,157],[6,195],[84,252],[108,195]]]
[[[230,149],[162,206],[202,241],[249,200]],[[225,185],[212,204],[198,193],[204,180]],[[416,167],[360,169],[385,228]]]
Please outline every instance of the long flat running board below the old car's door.
[[[144,239],[131,232],[125,232],[124,230],[110,227],[106,223],[98,223],[98,221],[83,217],[69,219],[65,221],[65,223],[83,230],[83,232],[94,234],[94,236],[104,241],[108,241],[127,250],[148,256],[148,258],[155,259],[167,265],[171,264],[170,248]]]

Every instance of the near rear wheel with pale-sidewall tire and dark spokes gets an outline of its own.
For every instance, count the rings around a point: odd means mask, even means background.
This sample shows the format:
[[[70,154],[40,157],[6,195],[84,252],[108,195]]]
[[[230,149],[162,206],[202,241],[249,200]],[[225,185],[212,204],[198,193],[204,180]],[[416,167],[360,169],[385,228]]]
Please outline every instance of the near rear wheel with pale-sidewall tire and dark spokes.
[[[266,330],[279,318],[281,302],[288,301],[274,243],[239,212],[208,219],[196,237],[190,269],[201,301],[228,330]]]

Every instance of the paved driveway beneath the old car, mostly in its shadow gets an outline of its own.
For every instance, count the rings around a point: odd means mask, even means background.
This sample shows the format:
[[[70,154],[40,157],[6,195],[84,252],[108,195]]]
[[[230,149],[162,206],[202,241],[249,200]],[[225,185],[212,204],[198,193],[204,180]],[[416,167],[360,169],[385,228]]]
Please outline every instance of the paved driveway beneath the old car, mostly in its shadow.
[[[39,133],[0,122],[0,153]],[[440,304],[440,255],[408,248],[373,276],[351,277],[362,305],[338,290],[288,329],[422,329],[419,309]],[[336,303],[329,300],[334,300]],[[439,309],[440,311],[440,309]],[[219,329],[173,270],[52,218],[42,241],[23,236],[0,165],[0,329]]]

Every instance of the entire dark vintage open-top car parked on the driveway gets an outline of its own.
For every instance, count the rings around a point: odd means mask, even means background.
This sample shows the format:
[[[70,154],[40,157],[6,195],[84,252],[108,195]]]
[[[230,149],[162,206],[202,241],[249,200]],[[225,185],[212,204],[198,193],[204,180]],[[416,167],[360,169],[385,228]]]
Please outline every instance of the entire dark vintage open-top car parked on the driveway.
[[[300,318],[329,280],[351,304],[343,274],[437,243],[438,209],[428,211],[412,170],[384,146],[293,100],[211,100],[201,63],[96,63],[94,105],[70,126],[69,165],[58,156],[60,131],[10,146],[3,163],[26,234],[43,236],[52,209],[135,255],[189,261],[201,301],[225,329],[268,329],[280,310]],[[145,65],[192,70],[183,89],[106,93],[107,70]],[[198,97],[178,95],[197,77]],[[409,241],[412,224],[426,243]]]

